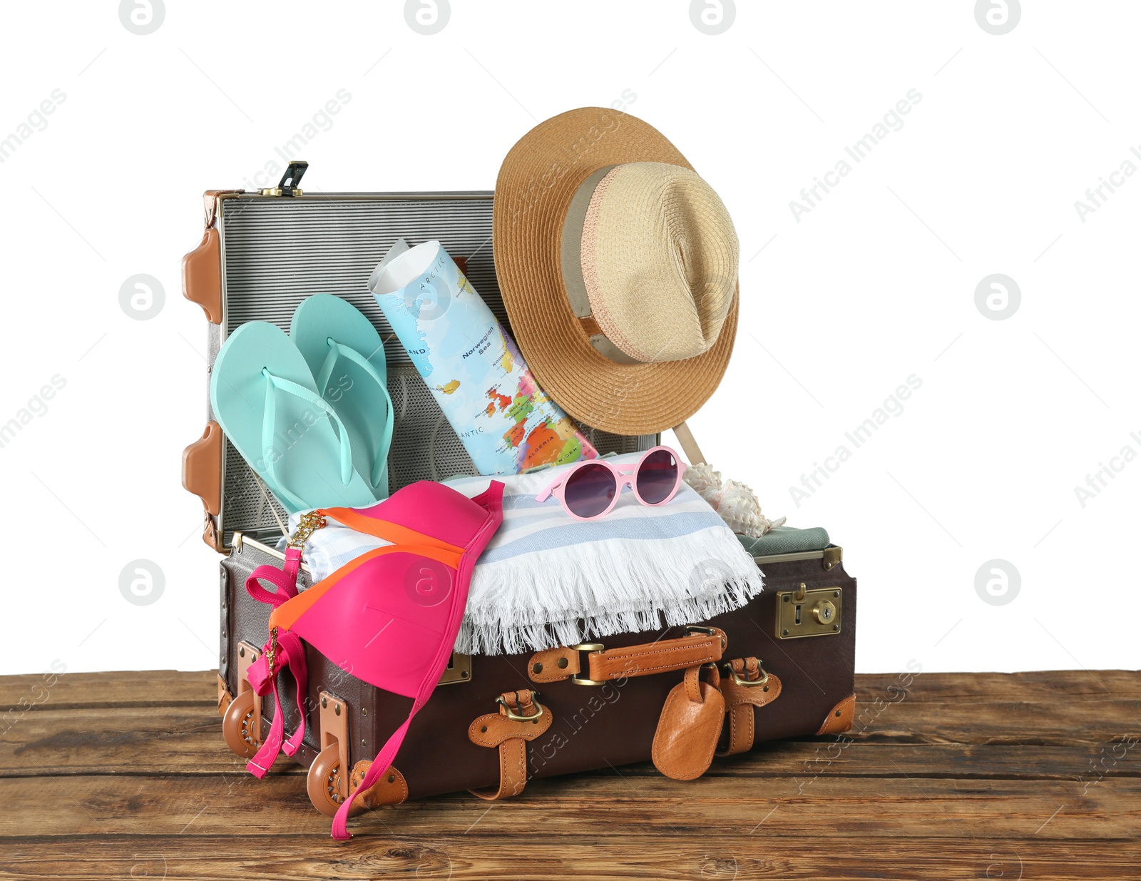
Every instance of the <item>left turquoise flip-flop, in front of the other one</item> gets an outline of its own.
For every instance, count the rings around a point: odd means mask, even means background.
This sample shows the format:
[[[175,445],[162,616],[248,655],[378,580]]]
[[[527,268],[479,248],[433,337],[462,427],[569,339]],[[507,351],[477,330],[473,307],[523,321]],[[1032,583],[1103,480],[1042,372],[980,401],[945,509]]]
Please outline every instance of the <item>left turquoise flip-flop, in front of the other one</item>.
[[[380,501],[353,468],[345,423],[280,328],[254,321],[229,334],[210,373],[210,404],[230,443],[291,514]]]

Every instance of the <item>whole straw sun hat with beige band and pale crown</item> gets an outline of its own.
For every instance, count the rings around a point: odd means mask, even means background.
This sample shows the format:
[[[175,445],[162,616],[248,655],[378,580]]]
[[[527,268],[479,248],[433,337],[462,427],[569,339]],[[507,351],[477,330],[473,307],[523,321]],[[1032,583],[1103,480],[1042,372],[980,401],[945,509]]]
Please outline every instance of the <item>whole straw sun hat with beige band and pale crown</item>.
[[[516,341],[570,415],[654,434],[713,394],[737,328],[737,235],[652,126],[605,107],[541,122],[503,160],[493,232]]]

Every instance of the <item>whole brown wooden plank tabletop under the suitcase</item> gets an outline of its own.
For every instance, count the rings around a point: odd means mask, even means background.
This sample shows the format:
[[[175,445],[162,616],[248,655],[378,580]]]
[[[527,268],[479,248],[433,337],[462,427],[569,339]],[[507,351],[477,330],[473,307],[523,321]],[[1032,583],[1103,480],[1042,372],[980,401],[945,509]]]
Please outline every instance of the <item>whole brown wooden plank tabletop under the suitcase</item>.
[[[850,738],[406,803],[342,844],[299,767],[226,749],[213,673],[7,677],[0,878],[1141,878],[1141,673],[857,684]]]

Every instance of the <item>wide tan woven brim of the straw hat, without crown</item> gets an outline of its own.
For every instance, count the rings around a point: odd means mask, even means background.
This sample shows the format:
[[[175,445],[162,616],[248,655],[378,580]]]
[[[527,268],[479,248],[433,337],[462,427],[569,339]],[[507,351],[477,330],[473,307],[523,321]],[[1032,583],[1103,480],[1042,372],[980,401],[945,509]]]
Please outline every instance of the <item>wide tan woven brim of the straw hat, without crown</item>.
[[[493,250],[511,330],[543,390],[592,428],[646,435],[680,425],[717,389],[733,353],[739,298],[734,294],[713,347],[685,361],[618,364],[590,345],[563,282],[563,221],[588,177],[625,162],[693,168],[659,131],[628,113],[582,107],[541,122],[500,168]]]

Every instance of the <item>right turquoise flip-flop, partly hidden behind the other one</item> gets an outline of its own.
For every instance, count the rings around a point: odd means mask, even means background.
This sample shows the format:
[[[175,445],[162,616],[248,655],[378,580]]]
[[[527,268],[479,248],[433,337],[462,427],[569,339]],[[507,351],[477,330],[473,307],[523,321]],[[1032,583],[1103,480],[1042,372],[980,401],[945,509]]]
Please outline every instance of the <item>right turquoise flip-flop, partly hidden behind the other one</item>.
[[[347,300],[317,293],[297,307],[289,337],[348,429],[354,467],[378,498],[387,498],[393,398],[377,329]]]

